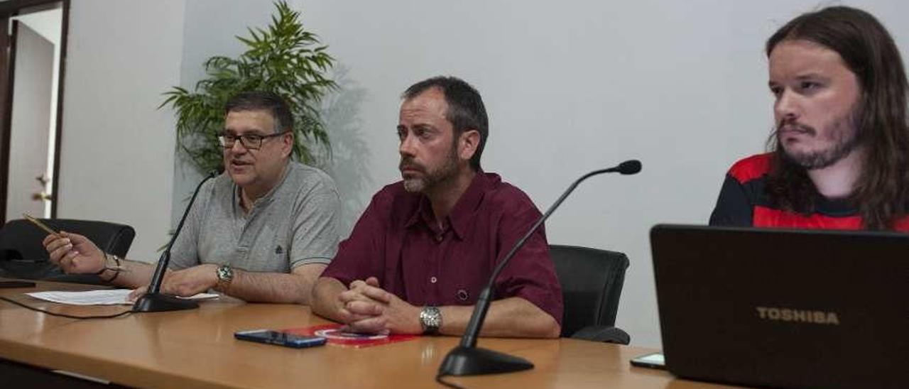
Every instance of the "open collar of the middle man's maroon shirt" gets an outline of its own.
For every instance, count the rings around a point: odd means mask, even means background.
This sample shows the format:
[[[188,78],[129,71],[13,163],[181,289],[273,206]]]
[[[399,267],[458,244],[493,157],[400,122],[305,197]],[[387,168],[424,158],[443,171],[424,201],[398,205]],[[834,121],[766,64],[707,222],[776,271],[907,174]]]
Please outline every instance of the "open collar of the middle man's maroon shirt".
[[[467,228],[474,220],[476,209],[479,208],[480,203],[483,201],[484,194],[501,181],[502,179],[499,175],[484,173],[482,170],[474,175],[470,186],[467,186],[467,190],[464,191],[464,194],[461,194],[461,198],[454,204],[452,211],[447,217],[448,225],[451,226],[458,239],[464,240]],[[407,219],[405,225],[410,227],[422,221],[429,226],[434,220],[432,208],[432,204],[429,203],[429,197],[425,194],[420,194],[420,202],[414,214],[411,214],[410,218]],[[433,229],[431,226],[430,228]]]

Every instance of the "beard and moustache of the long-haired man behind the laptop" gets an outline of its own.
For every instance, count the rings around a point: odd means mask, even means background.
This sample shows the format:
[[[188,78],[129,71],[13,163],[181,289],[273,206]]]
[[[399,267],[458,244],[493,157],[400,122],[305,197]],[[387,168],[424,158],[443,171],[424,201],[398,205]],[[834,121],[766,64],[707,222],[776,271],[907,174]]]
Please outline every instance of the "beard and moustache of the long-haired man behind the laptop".
[[[794,131],[813,135],[815,138],[818,134],[817,130],[810,125],[803,125],[793,121],[784,121],[776,128],[777,148],[782,147],[785,159],[794,165],[801,166],[805,170],[817,170],[830,167],[847,155],[852,154],[852,152],[861,145],[862,139],[859,136],[858,123],[855,120],[855,117],[856,115],[850,114],[835,120],[834,123],[830,125],[829,131],[825,132],[825,134],[822,135],[823,138],[821,138],[828,141],[830,145],[821,150],[808,151],[787,149],[780,141],[780,130],[785,126],[794,129]]]

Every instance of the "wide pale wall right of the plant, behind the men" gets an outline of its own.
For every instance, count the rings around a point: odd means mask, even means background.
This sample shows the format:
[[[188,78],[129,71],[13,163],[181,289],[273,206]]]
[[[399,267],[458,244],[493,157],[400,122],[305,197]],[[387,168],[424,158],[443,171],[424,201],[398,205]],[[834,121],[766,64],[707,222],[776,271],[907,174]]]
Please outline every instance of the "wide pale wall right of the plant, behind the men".
[[[878,15],[906,55],[909,5],[849,4]],[[633,344],[658,346],[649,228],[705,223],[729,165],[764,150],[772,125],[764,40],[817,2],[296,5],[366,91],[359,112],[375,183],[364,198],[398,179],[398,95],[432,75],[457,75],[480,90],[491,121],[485,169],[540,208],[587,171],[641,159],[640,175],[579,187],[546,230],[552,243],[628,254],[617,325]]]

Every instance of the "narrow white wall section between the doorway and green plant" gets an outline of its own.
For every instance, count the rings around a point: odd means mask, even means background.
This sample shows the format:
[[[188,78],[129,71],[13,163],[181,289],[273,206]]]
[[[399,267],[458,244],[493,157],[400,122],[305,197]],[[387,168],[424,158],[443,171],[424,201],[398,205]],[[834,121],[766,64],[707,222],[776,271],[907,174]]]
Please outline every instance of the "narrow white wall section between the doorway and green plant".
[[[184,1],[71,2],[57,216],[132,225],[133,259],[170,229],[174,118],[155,108],[180,83],[183,22]]]

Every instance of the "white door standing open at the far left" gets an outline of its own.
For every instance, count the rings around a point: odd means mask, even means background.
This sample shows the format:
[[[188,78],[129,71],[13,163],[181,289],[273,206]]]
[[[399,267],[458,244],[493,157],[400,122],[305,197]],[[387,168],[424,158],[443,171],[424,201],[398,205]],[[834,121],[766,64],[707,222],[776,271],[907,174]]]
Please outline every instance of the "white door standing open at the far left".
[[[67,11],[66,1],[0,2],[0,222],[55,216]]]

